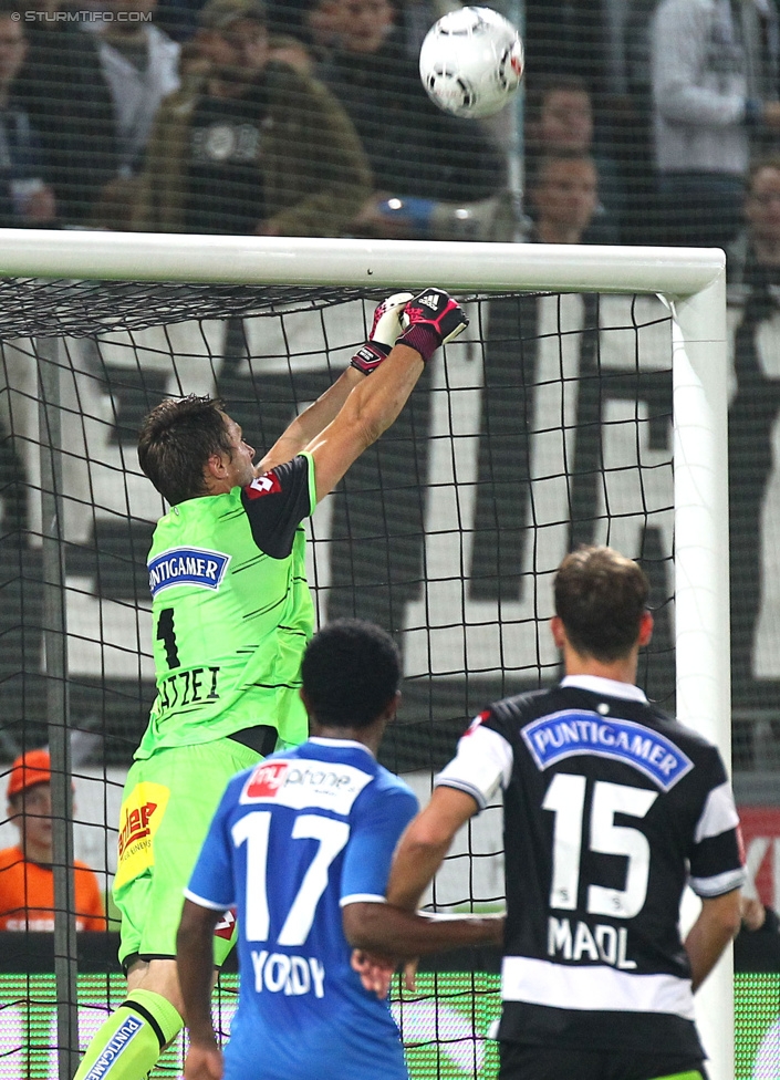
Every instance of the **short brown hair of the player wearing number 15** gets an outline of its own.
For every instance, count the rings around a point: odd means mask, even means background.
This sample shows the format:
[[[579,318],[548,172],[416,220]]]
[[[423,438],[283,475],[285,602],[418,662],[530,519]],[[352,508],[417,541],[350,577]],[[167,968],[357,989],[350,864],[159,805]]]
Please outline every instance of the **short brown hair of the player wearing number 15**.
[[[554,591],[555,614],[578,653],[603,663],[627,656],[649,595],[638,563],[613,548],[582,547],[558,568]]]

